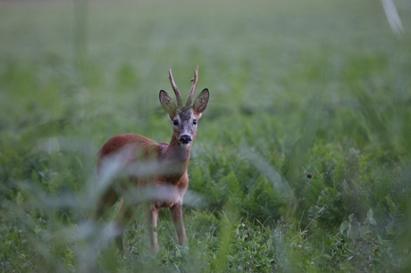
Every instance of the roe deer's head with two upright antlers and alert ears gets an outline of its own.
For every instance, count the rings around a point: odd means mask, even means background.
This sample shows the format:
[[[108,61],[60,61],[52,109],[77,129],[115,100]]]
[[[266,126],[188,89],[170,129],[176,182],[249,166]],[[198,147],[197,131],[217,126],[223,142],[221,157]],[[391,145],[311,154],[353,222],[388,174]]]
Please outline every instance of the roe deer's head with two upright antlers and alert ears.
[[[174,79],[172,79],[171,69],[169,70],[169,79],[172,84],[172,90],[174,90],[174,94],[177,98],[177,103],[174,103],[172,97],[164,90],[160,91],[160,103],[165,112],[168,113],[170,120],[172,120],[173,137],[175,137],[180,145],[189,146],[194,137],[196,137],[197,121],[200,119],[202,112],[206,110],[209,92],[208,89],[205,88],[191,105],[194,90],[197,85],[198,66],[194,71],[194,78],[191,79],[193,84],[189,90],[189,97],[187,98],[185,105],[182,102],[179,88],[176,86]]]

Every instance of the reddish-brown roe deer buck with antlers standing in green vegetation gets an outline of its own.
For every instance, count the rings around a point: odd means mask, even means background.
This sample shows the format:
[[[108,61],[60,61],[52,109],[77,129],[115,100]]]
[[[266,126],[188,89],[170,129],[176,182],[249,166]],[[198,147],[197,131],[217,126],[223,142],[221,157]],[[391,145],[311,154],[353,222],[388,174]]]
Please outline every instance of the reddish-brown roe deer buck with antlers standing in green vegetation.
[[[197,84],[198,66],[191,79],[187,103],[184,105],[179,89],[169,79],[177,98],[177,103],[164,90],[159,98],[162,107],[172,120],[172,139],[170,143],[155,141],[136,134],[121,134],[110,138],[101,147],[97,158],[97,176],[110,168],[113,160],[120,169],[118,175],[126,180],[116,180],[115,184],[106,187],[96,203],[95,219],[113,206],[120,198],[118,211],[114,219],[116,244],[124,254],[123,233],[127,223],[134,215],[139,204],[145,207],[151,252],[158,252],[157,225],[158,210],[168,208],[172,216],[179,244],[184,244],[186,231],[182,219],[182,199],[189,186],[187,168],[189,154],[194,137],[197,134],[197,121],[206,110],[209,92],[204,89],[191,105],[194,89]]]

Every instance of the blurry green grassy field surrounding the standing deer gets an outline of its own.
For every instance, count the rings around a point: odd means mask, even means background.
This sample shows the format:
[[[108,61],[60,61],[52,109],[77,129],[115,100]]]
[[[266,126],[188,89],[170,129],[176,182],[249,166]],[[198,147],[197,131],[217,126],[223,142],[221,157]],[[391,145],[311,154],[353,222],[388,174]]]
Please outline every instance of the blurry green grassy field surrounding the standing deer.
[[[411,5],[379,1],[0,2],[0,271],[407,272]],[[85,224],[110,136],[168,141],[158,92],[199,65],[210,102],[176,243],[144,217]],[[110,216],[107,216],[110,218]]]

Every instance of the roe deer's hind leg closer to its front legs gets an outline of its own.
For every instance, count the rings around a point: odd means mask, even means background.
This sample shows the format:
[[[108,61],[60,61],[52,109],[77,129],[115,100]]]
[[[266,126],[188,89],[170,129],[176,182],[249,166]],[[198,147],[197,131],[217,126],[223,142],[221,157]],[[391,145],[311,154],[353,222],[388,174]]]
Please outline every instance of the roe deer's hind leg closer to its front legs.
[[[122,199],[114,219],[116,232],[118,232],[118,234],[115,236],[115,244],[117,244],[117,247],[119,248],[120,252],[122,252],[122,254],[124,254],[125,252],[123,240],[124,230],[127,224],[130,222],[130,219],[133,218],[134,212],[135,209],[133,208],[133,206],[128,203],[124,203],[124,200]]]

